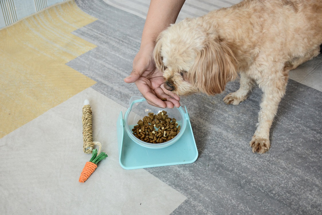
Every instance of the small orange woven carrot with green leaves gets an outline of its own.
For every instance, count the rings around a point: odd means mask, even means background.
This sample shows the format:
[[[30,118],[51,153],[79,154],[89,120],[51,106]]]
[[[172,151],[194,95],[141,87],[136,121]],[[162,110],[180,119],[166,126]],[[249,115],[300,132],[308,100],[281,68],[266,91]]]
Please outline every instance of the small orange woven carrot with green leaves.
[[[97,163],[107,157],[107,154],[105,154],[105,152],[99,153],[98,156],[96,155],[97,149],[93,149],[92,157],[90,158],[90,161],[86,162],[84,169],[81,172],[79,182],[84,183],[97,168]]]

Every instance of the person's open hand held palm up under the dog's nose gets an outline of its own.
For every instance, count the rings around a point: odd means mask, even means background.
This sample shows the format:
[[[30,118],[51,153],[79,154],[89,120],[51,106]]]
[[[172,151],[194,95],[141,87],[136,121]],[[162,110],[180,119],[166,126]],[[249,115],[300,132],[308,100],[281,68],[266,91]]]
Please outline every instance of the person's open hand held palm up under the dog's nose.
[[[147,103],[162,108],[180,107],[180,97],[164,88],[165,80],[162,71],[156,68],[153,60],[154,43],[142,46],[133,60],[133,70],[124,79],[126,83],[137,85]],[[166,98],[167,101],[162,101]]]

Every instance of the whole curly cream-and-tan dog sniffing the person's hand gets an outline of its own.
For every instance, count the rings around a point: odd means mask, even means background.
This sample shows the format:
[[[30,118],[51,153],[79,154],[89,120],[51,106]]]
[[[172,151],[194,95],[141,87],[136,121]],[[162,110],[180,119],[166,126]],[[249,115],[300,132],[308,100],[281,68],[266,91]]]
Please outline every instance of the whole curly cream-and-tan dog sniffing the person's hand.
[[[244,0],[161,32],[154,60],[167,90],[178,95],[222,93],[237,105],[257,83],[263,91],[253,152],[270,149],[270,127],[285,94],[289,70],[316,57],[322,43],[322,0]]]

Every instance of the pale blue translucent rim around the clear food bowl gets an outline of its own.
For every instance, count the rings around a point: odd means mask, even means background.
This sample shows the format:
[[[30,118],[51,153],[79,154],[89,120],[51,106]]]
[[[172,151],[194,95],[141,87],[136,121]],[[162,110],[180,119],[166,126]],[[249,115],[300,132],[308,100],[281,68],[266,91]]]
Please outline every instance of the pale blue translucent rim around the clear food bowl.
[[[167,142],[164,142],[164,143],[147,143],[147,142],[141,141],[136,136],[134,136],[132,134],[132,132],[130,132],[130,128],[129,128],[128,123],[127,123],[127,119],[128,119],[128,114],[129,114],[130,110],[132,110],[133,105],[135,103],[139,103],[139,102],[146,102],[146,99],[142,98],[142,99],[134,100],[130,104],[130,107],[128,108],[128,110],[125,112],[125,115],[124,115],[124,127],[125,127],[125,131],[128,133],[128,136],[134,142],[136,142],[137,144],[139,144],[141,146],[150,148],[150,149],[160,149],[160,148],[164,148],[164,147],[170,146],[170,145],[174,144],[176,141],[178,141],[180,139],[180,137],[183,135],[183,133],[185,131],[185,128],[186,128],[186,125],[187,125],[187,123],[186,123],[187,118],[185,116],[186,113],[185,113],[184,109],[181,106],[178,107],[178,108],[177,107],[174,107],[174,108],[178,109],[178,111],[181,114],[181,117],[182,117],[182,126],[180,127],[180,132],[172,140],[167,141]],[[150,104],[148,104],[148,105],[150,105]],[[166,110],[166,109],[167,108],[164,108],[164,110]]]

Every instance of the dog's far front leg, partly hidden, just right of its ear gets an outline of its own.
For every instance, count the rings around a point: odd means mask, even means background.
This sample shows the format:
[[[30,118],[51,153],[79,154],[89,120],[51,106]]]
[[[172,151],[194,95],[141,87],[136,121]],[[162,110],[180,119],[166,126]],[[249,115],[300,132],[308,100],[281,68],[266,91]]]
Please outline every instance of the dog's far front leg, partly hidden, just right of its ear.
[[[254,80],[247,76],[245,73],[241,73],[240,77],[240,87],[234,93],[229,93],[223,98],[226,104],[237,105],[247,99],[247,94],[251,91],[254,86]]]

